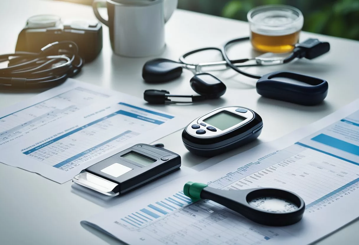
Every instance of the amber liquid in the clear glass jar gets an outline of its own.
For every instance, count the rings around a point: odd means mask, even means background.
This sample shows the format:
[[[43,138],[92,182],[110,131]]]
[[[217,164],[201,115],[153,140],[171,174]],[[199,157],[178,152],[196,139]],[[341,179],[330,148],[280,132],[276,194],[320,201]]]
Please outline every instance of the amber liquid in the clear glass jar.
[[[260,52],[286,53],[294,49],[298,43],[300,30],[292,34],[270,36],[251,32],[251,43]]]

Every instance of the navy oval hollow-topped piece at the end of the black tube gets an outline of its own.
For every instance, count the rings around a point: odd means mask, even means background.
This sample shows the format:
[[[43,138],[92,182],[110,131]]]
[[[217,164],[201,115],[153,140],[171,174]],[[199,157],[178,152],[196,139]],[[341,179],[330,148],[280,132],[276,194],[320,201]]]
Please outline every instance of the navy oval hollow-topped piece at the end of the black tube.
[[[261,96],[299,105],[317,105],[328,93],[328,82],[289,71],[272,72],[256,83]]]

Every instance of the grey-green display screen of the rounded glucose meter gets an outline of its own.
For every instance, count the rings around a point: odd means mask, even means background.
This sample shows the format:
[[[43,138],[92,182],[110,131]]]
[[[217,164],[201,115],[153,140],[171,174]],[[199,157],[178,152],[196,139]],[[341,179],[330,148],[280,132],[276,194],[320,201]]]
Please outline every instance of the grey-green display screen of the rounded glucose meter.
[[[205,123],[214,126],[220,130],[226,130],[240,122],[246,120],[246,117],[236,115],[229,111],[221,111],[213,116],[210,116],[203,120]]]

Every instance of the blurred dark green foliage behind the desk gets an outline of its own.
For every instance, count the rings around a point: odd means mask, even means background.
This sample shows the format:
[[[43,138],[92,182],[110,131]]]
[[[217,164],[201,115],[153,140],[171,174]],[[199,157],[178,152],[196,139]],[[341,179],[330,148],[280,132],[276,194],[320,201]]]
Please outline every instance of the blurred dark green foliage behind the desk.
[[[249,10],[266,4],[298,8],[304,31],[359,40],[359,0],[179,0],[178,8],[247,20]]]

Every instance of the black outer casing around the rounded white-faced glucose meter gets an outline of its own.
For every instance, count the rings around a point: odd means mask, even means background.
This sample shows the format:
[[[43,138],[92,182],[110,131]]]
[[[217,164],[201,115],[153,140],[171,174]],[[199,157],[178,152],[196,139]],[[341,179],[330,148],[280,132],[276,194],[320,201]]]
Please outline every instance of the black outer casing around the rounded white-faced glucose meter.
[[[189,125],[188,124],[182,131],[182,141],[187,150],[202,157],[213,157],[238,148],[239,146],[247,144],[258,138],[263,128],[261,116],[251,109],[245,107],[241,108],[247,109],[253,113],[254,117],[252,120],[241,127],[233,129],[222,135],[212,138],[195,137],[186,131],[186,128]]]

